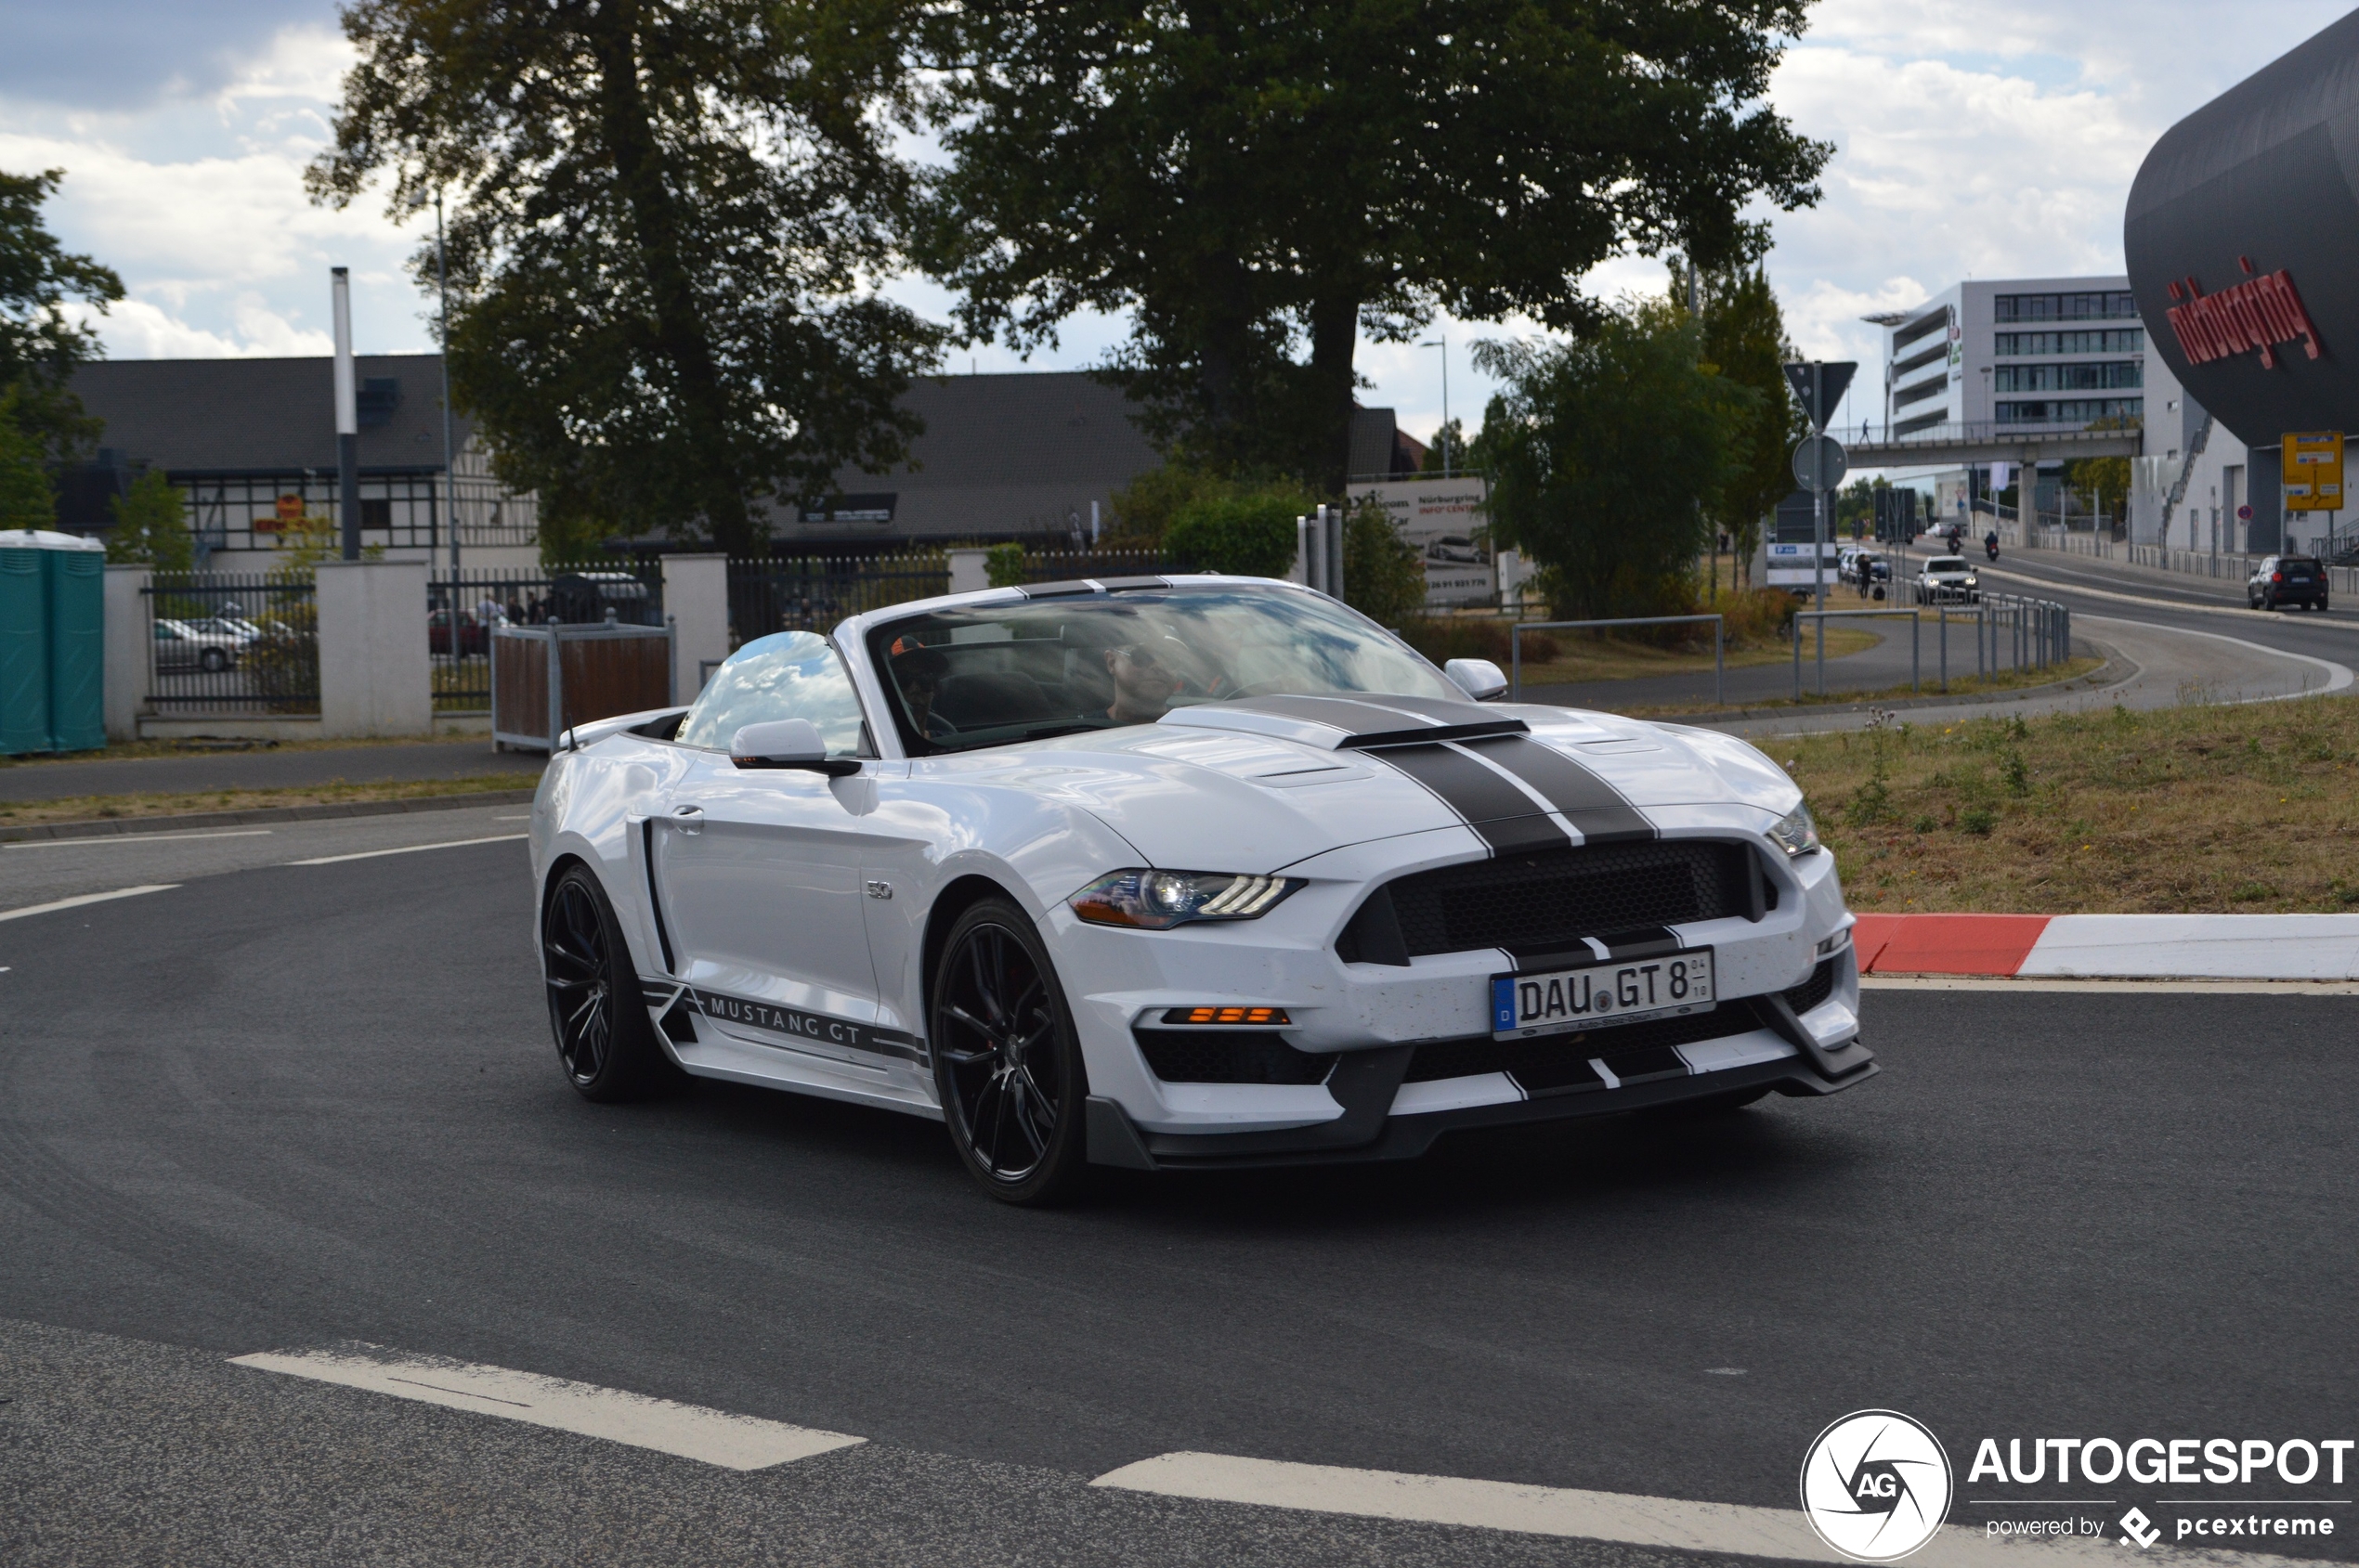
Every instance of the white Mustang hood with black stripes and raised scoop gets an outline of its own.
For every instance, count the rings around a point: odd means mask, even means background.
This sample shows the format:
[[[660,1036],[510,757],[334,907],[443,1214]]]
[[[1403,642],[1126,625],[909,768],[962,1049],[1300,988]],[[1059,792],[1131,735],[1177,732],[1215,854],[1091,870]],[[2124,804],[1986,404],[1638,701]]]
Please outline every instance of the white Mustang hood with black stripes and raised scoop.
[[[1647,813],[1668,806],[1750,804],[1783,816],[1800,799],[1767,757],[1715,731],[1404,698],[1208,703],[1158,724],[918,766],[1080,806],[1154,865],[1238,872],[1380,837],[1453,825],[1479,832],[1550,813],[1500,769],[1538,778],[1540,797],[1585,835],[1644,830]]]

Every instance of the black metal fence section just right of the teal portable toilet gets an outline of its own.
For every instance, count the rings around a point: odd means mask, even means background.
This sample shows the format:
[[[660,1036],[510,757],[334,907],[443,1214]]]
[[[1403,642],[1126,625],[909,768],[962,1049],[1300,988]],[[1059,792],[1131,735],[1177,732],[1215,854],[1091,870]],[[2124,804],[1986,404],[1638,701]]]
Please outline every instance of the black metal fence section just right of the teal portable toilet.
[[[156,712],[318,712],[318,604],[309,578],[156,573],[142,597]]]

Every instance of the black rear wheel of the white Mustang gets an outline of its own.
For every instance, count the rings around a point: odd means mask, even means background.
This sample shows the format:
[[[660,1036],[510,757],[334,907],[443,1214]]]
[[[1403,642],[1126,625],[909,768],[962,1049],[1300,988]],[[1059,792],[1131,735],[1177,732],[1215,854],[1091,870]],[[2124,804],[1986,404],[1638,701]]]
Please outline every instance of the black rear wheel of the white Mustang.
[[[639,974],[585,865],[566,868],[550,889],[540,967],[566,1082],[594,1101],[639,1099],[663,1082],[670,1063],[646,1021]]]

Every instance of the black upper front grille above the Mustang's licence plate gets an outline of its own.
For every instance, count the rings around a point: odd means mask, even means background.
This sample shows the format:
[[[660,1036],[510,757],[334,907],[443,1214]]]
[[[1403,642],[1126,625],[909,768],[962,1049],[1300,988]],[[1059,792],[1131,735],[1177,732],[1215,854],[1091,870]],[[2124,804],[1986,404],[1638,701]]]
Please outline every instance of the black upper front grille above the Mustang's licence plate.
[[[1585,844],[1441,865],[1385,884],[1408,957],[1562,953],[1583,936],[1760,917],[1767,879],[1746,844]],[[1378,960],[1382,962],[1382,960]]]

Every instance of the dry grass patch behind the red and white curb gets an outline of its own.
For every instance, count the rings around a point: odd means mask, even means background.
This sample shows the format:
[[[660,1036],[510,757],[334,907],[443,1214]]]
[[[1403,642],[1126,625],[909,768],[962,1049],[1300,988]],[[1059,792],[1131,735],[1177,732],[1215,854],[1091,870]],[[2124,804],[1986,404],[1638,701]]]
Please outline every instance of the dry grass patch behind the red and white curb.
[[[2359,908],[2359,703],[2305,698],[1767,740],[1852,908]]]

